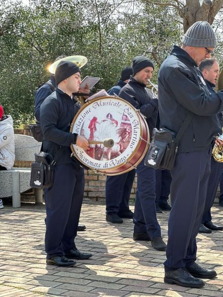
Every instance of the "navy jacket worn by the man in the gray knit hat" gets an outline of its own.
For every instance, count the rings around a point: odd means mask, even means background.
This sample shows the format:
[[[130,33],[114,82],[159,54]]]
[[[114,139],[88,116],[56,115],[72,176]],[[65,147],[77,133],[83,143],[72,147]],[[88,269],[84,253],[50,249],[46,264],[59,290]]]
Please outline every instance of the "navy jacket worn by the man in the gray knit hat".
[[[202,73],[189,54],[174,46],[158,77],[161,127],[179,131],[188,113],[192,121],[179,141],[178,152],[208,148],[222,134],[217,113],[223,110],[223,93],[210,94]]]

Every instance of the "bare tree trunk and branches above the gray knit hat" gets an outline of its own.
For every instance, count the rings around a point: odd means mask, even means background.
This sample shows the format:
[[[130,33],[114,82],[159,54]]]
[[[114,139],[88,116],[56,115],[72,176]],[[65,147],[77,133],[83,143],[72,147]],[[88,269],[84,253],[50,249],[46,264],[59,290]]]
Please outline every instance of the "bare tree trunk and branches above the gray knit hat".
[[[217,13],[223,7],[223,0],[143,0],[148,4],[167,6],[175,9],[183,19],[183,31],[197,21],[213,23]]]

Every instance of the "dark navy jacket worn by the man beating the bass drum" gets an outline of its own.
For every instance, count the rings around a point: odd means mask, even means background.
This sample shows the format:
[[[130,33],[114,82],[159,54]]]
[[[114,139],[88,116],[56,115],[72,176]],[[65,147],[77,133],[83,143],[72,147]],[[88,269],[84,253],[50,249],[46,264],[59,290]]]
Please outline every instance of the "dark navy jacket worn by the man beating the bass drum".
[[[48,98],[44,100],[40,108],[40,123],[43,132],[43,151],[50,152],[55,157],[56,152],[61,149],[63,151],[59,160],[59,164],[73,163],[70,157],[71,144],[76,144],[77,134],[70,133],[70,125],[77,111],[79,103],[71,99],[70,96],[56,88]]]

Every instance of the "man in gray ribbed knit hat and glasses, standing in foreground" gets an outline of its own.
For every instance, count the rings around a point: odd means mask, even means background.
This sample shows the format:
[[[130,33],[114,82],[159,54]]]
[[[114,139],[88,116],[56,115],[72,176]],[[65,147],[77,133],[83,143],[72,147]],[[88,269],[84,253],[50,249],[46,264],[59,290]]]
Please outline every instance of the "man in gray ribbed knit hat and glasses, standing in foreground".
[[[164,281],[200,288],[200,278],[214,278],[213,269],[196,261],[196,236],[204,211],[210,175],[211,144],[222,134],[217,113],[223,110],[223,93],[210,94],[198,65],[216,45],[208,22],[196,22],[186,32],[181,48],[174,46],[161,65],[158,78],[161,127],[185,131],[179,140],[170,189],[172,209],[168,221]],[[218,144],[220,141],[217,141]]]

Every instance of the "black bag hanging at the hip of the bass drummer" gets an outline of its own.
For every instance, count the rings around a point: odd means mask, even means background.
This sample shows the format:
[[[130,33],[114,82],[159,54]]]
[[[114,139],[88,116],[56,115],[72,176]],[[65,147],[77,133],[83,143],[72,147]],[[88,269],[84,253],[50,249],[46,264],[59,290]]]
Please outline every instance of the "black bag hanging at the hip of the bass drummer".
[[[51,188],[54,183],[54,161],[48,152],[35,153],[36,161],[31,166],[30,187],[37,189]]]

